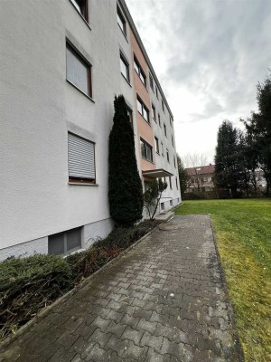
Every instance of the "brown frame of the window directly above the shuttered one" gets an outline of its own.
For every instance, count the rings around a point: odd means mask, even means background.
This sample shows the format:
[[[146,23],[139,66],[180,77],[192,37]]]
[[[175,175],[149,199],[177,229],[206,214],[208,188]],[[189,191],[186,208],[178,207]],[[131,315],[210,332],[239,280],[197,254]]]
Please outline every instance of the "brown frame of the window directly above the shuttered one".
[[[88,91],[89,94],[84,90],[81,90],[79,86],[74,84],[73,81],[68,79],[68,62],[67,62],[67,49],[72,53],[74,57],[78,59],[87,69],[87,81],[88,81]],[[81,93],[85,94],[90,100],[92,100],[92,65],[91,63],[79,52],[76,47],[70,43],[69,39],[66,39],[66,81],[68,81],[73,87],[79,90]]]

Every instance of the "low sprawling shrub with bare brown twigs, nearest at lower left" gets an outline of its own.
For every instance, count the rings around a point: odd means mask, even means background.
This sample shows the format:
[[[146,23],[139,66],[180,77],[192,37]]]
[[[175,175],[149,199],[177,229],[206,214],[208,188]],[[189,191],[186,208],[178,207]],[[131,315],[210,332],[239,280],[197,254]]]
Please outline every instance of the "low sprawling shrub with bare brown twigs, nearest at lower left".
[[[2,338],[74,285],[70,265],[55,255],[6,260],[0,263],[0,280]]]

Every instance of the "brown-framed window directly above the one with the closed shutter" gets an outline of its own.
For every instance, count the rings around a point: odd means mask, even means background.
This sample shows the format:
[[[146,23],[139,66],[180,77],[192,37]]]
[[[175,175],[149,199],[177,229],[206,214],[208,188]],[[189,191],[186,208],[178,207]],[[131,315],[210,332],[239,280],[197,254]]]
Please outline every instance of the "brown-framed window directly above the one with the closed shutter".
[[[90,64],[86,62],[79,52],[66,44],[66,78],[76,88],[85,93],[88,97],[92,97],[91,90],[91,70]]]

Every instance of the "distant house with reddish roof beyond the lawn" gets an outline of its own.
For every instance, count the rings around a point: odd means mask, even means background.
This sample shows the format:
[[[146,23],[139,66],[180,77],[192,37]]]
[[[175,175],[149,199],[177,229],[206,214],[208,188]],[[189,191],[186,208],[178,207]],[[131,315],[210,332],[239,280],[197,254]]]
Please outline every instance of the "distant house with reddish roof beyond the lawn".
[[[189,181],[186,192],[214,191],[214,165],[185,168]]]

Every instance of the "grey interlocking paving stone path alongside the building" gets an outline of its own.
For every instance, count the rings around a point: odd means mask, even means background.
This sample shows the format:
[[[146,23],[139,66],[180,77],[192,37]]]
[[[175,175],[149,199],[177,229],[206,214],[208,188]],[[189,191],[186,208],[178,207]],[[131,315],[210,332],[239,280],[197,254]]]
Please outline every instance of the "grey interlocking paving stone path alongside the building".
[[[0,360],[238,361],[210,216],[175,216],[162,228],[61,300]]]

